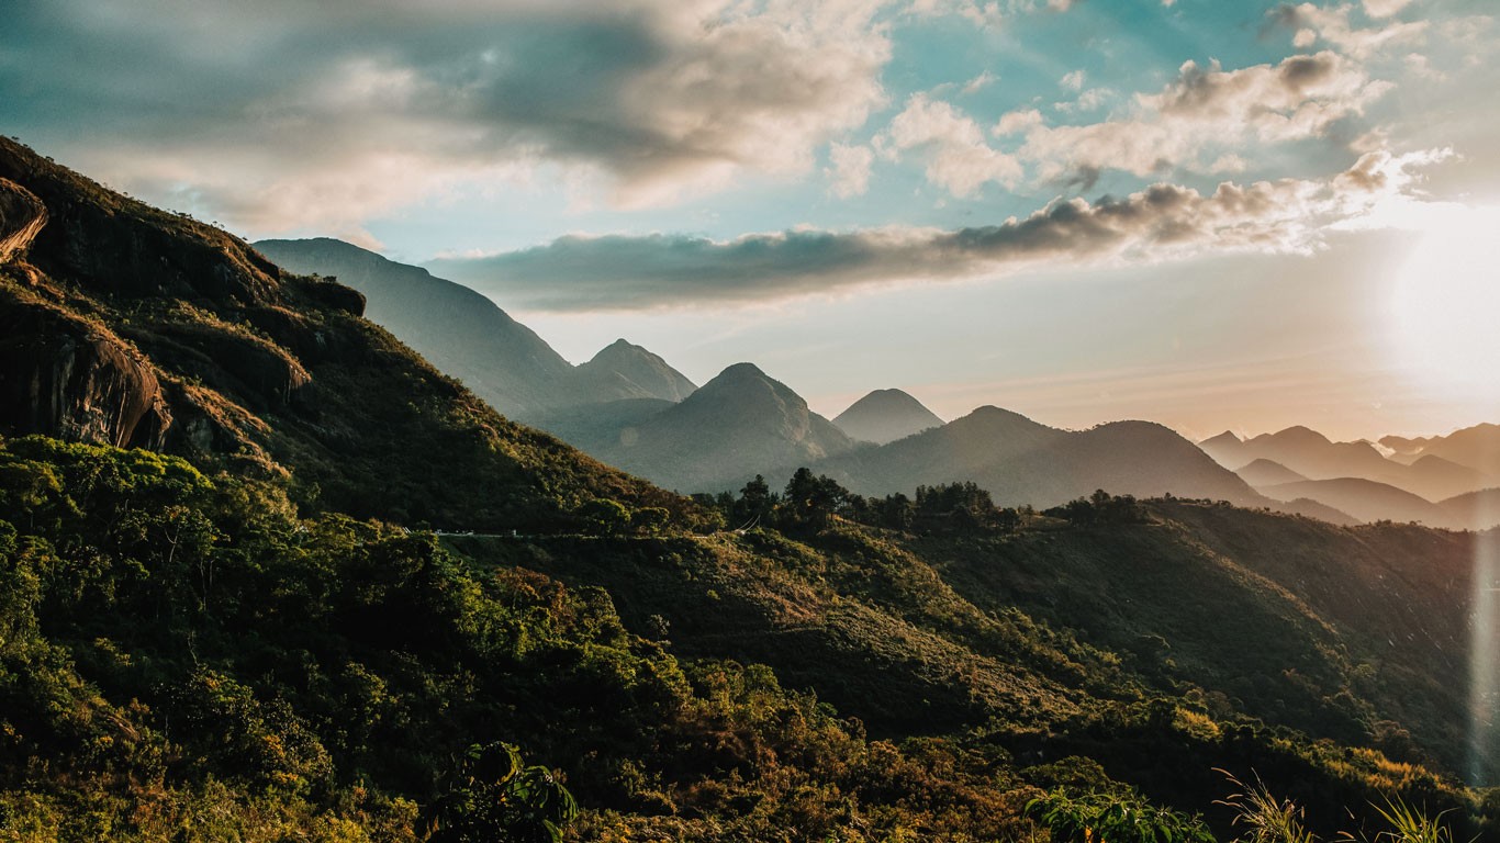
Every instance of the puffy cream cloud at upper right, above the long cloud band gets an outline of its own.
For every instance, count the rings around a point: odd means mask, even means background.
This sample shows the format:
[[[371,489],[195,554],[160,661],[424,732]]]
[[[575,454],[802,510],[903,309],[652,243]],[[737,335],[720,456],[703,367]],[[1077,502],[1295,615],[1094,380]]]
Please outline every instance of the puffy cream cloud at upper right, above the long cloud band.
[[[1389,90],[1336,52],[1293,56],[1280,64],[1224,70],[1186,62],[1155,94],[1137,94],[1131,114],[1082,126],[1032,124],[1016,156],[1044,180],[1120,170],[1152,176],[1172,168],[1215,171],[1224,152],[1323,136]],[[996,124],[998,135],[1017,130]],[[1218,152],[1204,159],[1204,153]]]

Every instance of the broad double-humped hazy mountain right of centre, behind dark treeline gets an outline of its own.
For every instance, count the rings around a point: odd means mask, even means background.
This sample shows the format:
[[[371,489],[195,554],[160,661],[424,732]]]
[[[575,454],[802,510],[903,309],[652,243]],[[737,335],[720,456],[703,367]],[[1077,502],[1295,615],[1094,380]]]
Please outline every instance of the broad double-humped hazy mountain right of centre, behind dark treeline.
[[[1263,502],[1250,484],[1161,424],[1058,430],[996,406],[814,468],[867,495],[974,480],[999,506],[1050,507],[1095,489]]]

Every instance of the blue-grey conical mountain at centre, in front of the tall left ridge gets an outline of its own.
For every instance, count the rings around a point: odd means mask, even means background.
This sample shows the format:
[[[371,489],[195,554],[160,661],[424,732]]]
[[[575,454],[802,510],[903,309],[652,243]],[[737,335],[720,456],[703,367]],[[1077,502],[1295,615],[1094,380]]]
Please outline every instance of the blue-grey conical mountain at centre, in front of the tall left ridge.
[[[786,384],[736,363],[681,404],[596,430],[590,453],[669,489],[718,492],[854,447]]]

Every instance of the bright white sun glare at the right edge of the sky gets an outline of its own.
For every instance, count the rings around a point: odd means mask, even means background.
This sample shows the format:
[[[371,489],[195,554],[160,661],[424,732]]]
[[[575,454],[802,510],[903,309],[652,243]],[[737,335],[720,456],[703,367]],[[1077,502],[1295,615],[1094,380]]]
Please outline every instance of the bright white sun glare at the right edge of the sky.
[[[1452,398],[1500,405],[1500,207],[1434,214],[1392,304],[1404,368]]]

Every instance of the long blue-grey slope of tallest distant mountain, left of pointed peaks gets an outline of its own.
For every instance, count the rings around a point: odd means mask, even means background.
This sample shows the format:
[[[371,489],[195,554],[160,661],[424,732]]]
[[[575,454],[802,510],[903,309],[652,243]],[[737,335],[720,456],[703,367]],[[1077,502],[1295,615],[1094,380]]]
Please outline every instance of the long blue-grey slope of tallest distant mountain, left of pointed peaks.
[[[294,273],[334,276],[363,292],[366,318],[508,417],[572,402],[573,366],[466,286],[327,237],[260,240],[255,248]]]

